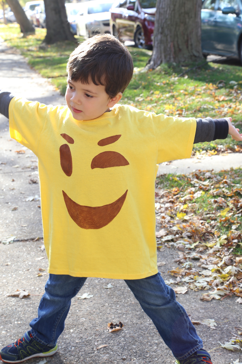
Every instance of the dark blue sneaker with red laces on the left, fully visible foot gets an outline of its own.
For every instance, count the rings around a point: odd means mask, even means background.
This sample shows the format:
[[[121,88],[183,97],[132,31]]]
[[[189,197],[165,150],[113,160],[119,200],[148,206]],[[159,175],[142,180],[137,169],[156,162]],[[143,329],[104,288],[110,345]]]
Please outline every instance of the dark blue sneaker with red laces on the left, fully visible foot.
[[[30,331],[25,332],[21,339],[14,344],[5,346],[0,351],[0,359],[4,363],[22,363],[22,361],[34,358],[36,356],[50,356],[57,351],[55,347],[45,346],[33,339]]]

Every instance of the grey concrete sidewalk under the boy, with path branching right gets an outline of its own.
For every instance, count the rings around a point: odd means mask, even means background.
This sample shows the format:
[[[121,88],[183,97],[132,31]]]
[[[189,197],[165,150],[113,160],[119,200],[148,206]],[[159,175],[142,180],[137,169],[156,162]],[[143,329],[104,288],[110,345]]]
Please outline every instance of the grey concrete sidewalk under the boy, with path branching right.
[[[0,88],[22,94],[29,100],[64,104],[65,100],[48,80],[32,70],[15,50],[0,45]],[[198,161],[196,158],[160,165],[159,173],[187,173],[194,169],[227,169],[240,165],[241,155],[214,156]],[[197,163],[196,163],[197,162]],[[200,163],[201,162],[201,163]],[[220,163],[220,164],[219,164]],[[188,168],[190,167],[190,168]],[[42,224],[37,157],[27,148],[12,140],[8,119],[0,115],[0,347],[12,343],[29,329],[29,321],[36,317],[37,307],[48,277],[48,261],[41,249]],[[30,201],[32,200],[32,201]],[[15,238],[13,244],[3,244]],[[40,238],[33,241],[34,238]],[[158,252],[159,267],[164,279],[168,270],[176,267],[176,250],[165,248]],[[114,262],[110,262],[114,264]],[[118,261],[115,262],[118,264]],[[196,264],[195,264],[196,265]],[[42,269],[43,274],[40,275]],[[111,283],[111,288],[106,288]],[[28,290],[30,296],[20,300],[7,294],[16,289]],[[65,330],[58,341],[59,350],[47,359],[36,358],[29,364],[74,363],[158,363],[173,364],[175,359],[157,333],[151,320],[144,314],[131,291],[122,280],[88,278],[83,293],[90,299],[73,298]],[[203,292],[202,292],[203,293]],[[222,301],[199,300],[201,292],[188,291],[177,300],[194,320],[214,318],[216,332],[206,325],[197,327],[206,349],[219,346],[240,326],[241,306],[237,297]],[[124,328],[109,333],[108,322],[122,321]],[[103,346],[100,349],[100,346]],[[214,364],[229,364],[241,359],[239,352],[225,349],[212,351]]]

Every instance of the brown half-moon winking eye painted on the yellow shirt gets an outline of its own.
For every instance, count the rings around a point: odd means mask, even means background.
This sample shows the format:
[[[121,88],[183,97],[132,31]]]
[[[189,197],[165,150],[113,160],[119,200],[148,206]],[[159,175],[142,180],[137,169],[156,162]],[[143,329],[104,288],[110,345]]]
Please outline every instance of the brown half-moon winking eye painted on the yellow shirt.
[[[120,153],[107,151],[96,155],[91,161],[91,169],[127,166],[127,159]]]

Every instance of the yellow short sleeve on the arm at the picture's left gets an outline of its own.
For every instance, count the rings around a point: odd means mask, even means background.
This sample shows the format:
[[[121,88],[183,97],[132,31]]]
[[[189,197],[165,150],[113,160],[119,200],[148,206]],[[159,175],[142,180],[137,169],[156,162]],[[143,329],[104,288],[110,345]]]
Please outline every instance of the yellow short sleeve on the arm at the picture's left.
[[[38,140],[45,124],[48,106],[14,97],[8,111],[11,138],[37,155]]]

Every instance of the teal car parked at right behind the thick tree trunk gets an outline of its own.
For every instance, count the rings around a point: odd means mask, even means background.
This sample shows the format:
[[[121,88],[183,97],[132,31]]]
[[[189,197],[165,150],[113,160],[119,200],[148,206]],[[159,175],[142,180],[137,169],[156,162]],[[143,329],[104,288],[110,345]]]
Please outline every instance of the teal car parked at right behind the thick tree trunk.
[[[205,0],[201,22],[204,56],[235,56],[242,63],[242,0]]]

